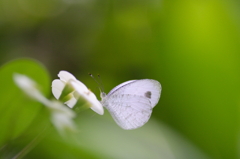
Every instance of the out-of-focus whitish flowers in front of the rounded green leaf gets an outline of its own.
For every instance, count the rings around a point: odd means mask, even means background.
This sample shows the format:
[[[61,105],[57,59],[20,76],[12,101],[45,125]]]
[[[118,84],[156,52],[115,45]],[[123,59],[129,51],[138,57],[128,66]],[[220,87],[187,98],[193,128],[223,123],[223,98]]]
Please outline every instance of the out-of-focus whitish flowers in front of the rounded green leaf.
[[[63,134],[65,130],[75,130],[72,118],[75,113],[58,101],[48,100],[38,89],[35,81],[29,77],[15,73],[14,82],[28,96],[45,105],[51,113],[51,121],[58,131]]]

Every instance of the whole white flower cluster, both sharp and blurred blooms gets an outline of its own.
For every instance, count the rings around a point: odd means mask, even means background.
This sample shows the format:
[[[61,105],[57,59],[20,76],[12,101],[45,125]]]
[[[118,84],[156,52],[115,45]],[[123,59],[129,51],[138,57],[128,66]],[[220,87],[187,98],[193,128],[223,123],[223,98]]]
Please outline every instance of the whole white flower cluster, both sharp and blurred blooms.
[[[103,115],[102,104],[82,82],[77,80],[71,73],[60,71],[60,79],[52,82],[52,93],[56,99],[63,101],[69,108],[59,101],[47,99],[37,87],[35,81],[22,74],[14,74],[13,79],[16,85],[21,88],[28,96],[45,105],[51,112],[53,125],[64,133],[66,129],[75,130],[73,118],[76,116],[73,108],[78,100],[84,101],[84,105],[91,108],[96,113]]]

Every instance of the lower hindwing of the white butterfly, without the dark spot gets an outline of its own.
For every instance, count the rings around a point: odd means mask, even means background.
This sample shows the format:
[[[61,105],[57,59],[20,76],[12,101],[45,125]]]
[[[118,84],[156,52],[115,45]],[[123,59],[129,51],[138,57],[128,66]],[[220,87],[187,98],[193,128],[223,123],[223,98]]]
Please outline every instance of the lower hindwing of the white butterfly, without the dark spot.
[[[152,107],[147,98],[130,94],[111,96],[105,107],[123,129],[136,129],[144,125],[152,113]]]

